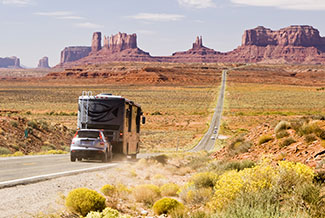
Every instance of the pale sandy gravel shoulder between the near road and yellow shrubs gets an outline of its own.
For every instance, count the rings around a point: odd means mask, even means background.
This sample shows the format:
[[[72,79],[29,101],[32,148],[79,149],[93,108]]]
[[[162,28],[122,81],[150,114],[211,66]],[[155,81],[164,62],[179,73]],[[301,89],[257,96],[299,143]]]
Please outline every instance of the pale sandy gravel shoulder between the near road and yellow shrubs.
[[[35,218],[49,214],[56,214],[56,216],[69,214],[64,206],[65,197],[75,188],[87,187],[100,193],[101,187],[106,184],[123,184],[131,189],[141,184],[160,186],[172,182],[183,185],[192,175],[189,171],[182,174],[172,162],[168,165],[158,162],[150,162],[151,164],[148,165],[141,160],[137,163],[116,163],[118,166],[111,169],[0,189],[0,218]],[[154,217],[153,212],[145,205],[135,203],[132,194],[129,194],[127,198],[133,203],[120,202],[116,205],[121,213],[137,217],[141,211],[147,210],[148,216]]]

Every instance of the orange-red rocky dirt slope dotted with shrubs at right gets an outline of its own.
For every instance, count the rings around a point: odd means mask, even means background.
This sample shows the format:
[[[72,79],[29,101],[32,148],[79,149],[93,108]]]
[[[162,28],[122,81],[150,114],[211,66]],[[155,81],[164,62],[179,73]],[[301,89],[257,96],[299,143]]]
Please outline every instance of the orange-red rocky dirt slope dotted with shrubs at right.
[[[266,118],[267,119],[267,118]],[[317,124],[325,130],[325,121],[318,120]],[[325,170],[325,164],[323,162],[325,154],[319,155],[322,151],[325,151],[323,145],[324,142],[315,136],[315,140],[312,142],[306,142],[304,136],[300,136],[293,129],[288,129],[288,136],[278,139],[274,132],[274,124],[268,121],[261,125],[249,128],[247,133],[244,133],[244,138],[247,142],[253,143],[247,152],[239,154],[233,154],[232,149],[229,146],[225,146],[214,154],[217,159],[227,160],[254,160],[258,161],[263,157],[271,158],[277,162],[279,160],[288,160],[293,162],[301,162],[310,167],[315,168],[318,171]],[[239,134],[240,135],[240,134]],[[272,139],[269,142],[259,144],[261,136],[271,136]],[[237,136],[238,138],[239,136]],[[289,137],[294,139],[294,142],[288,146],[281,146],[285,139]],[[236,137],[233,137],[233,141]],[[230,143],[229,143],[230,144]]]

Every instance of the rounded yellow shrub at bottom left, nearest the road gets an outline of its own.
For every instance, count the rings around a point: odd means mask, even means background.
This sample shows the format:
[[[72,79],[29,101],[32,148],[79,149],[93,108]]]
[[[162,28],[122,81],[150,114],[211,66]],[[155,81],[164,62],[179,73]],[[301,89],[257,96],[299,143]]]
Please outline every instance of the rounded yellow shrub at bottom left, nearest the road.
[[[86,216],[90,211],[102,211],[105,208],[105,200],[94,190],[77,188],[68,194],[65,205],[71,212]]]

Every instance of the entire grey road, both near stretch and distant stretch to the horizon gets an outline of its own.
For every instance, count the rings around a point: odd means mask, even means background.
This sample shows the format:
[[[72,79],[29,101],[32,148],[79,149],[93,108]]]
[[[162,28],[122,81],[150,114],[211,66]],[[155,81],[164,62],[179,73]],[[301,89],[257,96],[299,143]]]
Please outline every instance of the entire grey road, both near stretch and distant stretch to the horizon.
[[[190,151],[211,150],[218,136],[225,95],[227,70],[222,73],[222,83],[218,103],[207,133],[199,144]],[[148,157],[139,154],[138,158]],[[0,158],[0,188],[35,183],[60,176],[73,175],[86,171],[111,168],[119,162],[101,163],[95,161],[70,162],[70,155],[40,155]]]

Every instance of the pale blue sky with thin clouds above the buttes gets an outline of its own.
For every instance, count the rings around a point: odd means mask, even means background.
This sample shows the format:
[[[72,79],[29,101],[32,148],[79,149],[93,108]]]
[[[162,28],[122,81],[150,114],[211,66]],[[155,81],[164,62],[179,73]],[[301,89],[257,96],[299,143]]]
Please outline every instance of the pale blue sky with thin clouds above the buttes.
[[[90,46],[93,32],[136,33],[153,56],[206,47],[230,51],[246,29],[311,25],[325,36],[325,0],[0,0],[0,57],[26,67],[68,46]],[[323,34],[322,34],[323,33]]]

